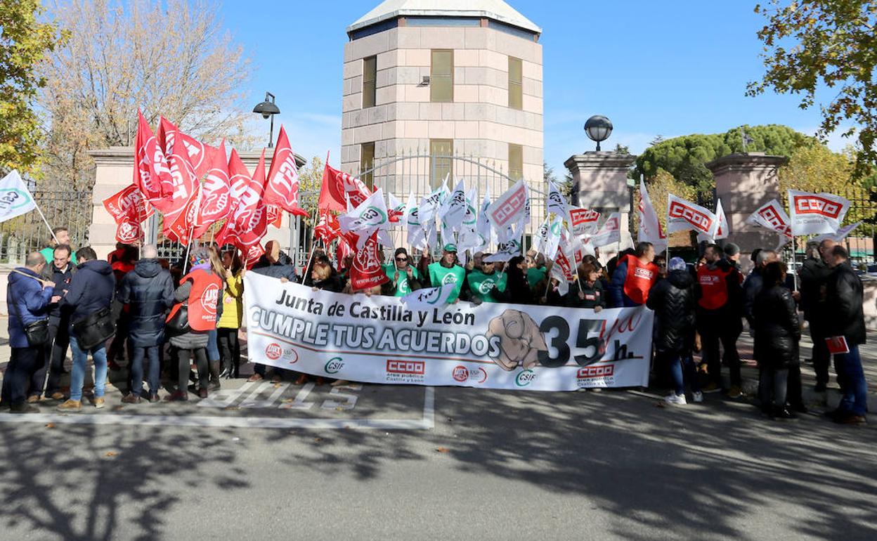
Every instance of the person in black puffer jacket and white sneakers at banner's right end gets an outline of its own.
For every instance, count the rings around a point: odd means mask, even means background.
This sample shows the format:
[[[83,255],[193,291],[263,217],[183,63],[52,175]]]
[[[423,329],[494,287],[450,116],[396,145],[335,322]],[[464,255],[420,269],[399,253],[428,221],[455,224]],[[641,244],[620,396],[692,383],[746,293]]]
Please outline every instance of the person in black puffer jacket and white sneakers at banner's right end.
[[[667,267],[667,279],[658,281],[649,292],[645,305],[655,311],[654,347],[657,357],[667,363],[674,382],[668,403],[686,404],[685,380],[692,398],[702,402],[691,350],[695,344],[695,279],[685,261],[673,258]],[[683,377],[683,370],[686,377]]]

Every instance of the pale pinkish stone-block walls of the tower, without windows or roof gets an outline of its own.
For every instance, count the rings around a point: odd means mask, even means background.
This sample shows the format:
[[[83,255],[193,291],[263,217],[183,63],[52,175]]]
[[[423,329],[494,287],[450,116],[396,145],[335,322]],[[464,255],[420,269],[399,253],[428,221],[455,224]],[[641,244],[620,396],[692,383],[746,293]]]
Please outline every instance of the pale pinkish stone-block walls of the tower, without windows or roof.
[[[503,32],[481,18],[478,26],[407,25],[346,43],[341,131],[341,168],[360,173],[363,144],[374,158],[430,153],[431,139],[453,140],[453,153],[471,157],[503,174],[510,170],[510,144],[521,147],[523,177],[542,186],[542,46],[538,34]],[[453,51],[453,102],[431,101],[431,51]],[[363,108],[364,59],[376,56],[374,107]],[[510,57],[520,59],[521,109],[511,108]],[[455,170],[458,176],[465,176]],[[466,179],[467,182],[470,179]],[[399,164],[375,171],[374,185],[403,196],[430,189],[429,174],[410,174]],[[483,190],[484,187],[481,187]],[[496,187],[491,188],[498,195]],[[483,193],[483,191],[481,191]],[[537,219],[534,209],[534,221]]]

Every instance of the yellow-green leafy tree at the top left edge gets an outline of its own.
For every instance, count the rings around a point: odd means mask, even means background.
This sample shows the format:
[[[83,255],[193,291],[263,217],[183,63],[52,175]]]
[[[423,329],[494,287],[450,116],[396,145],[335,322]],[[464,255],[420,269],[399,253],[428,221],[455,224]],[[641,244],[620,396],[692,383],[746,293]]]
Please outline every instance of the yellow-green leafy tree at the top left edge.
[[[63,36],[53,22],[40,22],[39,0],[0,2],[0,167],[38,171],[42,140],[33,103],[46,80],[38,73]]]

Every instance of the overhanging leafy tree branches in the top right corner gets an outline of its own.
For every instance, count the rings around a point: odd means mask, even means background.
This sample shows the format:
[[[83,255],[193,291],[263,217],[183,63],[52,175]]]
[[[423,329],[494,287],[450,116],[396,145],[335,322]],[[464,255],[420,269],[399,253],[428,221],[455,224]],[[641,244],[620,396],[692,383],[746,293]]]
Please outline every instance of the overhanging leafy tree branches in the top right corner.
[[[869,173],[877,161],[877,3],[873,0],[771,0],[755,6],[766,25],[758,36],[766,73],[747,85],[748,96],[767,90],[801,95],[799,107],[816,103],[816,89],[831,89],[831,102],[820,103],[824,139],[845,120],[859,125],[860,150],[854,174]],[[850,128],[845,137],[856,132]]]

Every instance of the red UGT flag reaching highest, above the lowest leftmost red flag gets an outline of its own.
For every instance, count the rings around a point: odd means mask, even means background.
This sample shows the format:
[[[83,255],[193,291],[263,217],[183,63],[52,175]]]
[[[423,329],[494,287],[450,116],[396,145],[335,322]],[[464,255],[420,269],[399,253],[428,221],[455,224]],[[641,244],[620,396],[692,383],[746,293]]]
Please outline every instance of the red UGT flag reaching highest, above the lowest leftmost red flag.
[[[164,212],[170,202],[163,199],[173,192],[170,167],[164,150],[155,139],[146,117],[137,111],[137,137],[134,139],[133,184],[157,209]]]

